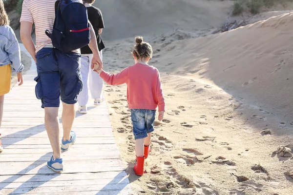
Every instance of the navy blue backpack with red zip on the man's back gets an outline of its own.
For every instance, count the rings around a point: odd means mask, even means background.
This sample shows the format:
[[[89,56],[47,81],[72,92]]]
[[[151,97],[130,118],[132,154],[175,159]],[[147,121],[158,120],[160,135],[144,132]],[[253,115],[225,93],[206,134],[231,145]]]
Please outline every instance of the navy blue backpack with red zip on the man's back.
[[[45,13],[44,13],[45,14]],[[57,0],[53,31],[45,31],[52,44],[63,52],[82,48],[90,42],[87,9],[78,0]]]

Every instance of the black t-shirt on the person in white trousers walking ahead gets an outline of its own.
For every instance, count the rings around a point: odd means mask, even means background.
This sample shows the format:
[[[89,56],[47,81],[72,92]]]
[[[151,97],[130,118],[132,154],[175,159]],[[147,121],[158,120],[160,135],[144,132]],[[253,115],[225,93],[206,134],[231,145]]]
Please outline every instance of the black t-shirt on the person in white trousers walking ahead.
[[[104,28],[104,20],[103,20],[103,15],[100,9],[90,6],[87,7],[87,15],[88,15],[88,20],[92,24],[95,34],[97,36],[97,43],[99,47],[99,51],[105,48],[105,45],[103,43],[103,40],[101,39],[101,36],[99,35],[99,29]],[[82,54],[92,54],[93,52],[89,48],[88,45],[84,46],[81,48]]]

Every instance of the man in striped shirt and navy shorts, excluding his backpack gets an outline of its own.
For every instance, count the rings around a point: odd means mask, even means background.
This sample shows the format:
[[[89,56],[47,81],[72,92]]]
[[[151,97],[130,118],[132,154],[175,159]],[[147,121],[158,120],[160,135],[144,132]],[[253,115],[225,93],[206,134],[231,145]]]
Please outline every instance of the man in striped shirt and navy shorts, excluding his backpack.
[[[20,20],[21,40],[37,64],[36,97],[42,101],[42,108],[45,111],[45,127],[53,149],[53,156],[47,165],[53,171],[61,172],[63,171],[61,150],[69,150],[76,140],[76,135],[71,128],[75,118],[74,104],[77,102],[77,95],[81,92],[83,83],[80,50],[64,53],[54,49],[51,39],[45,34],[46,30],[52,32],[54,19],[55,0],[23,0]],[[37,47],[31,38],[33,24],[35,24]],[[91,25],[90,36],[96,37]],[[103,63],[97,42],[95,39],[92,40],[88,44],[93,52],[91,67],[98,70],[103,67]],[[60,98],[63,104],[61,147],[58,120]]]

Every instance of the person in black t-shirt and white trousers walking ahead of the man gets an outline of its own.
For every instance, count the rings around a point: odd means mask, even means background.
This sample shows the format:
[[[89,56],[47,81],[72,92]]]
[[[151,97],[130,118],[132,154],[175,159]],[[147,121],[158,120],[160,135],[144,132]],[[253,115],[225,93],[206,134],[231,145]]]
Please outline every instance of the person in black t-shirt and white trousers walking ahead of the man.
[[[97,36],[98,48],[100,51],[100,56],[102,59],[102,50],[105,48],[103,40],[101,39],[101,34],[103,31],[104,20],[102,12],[99,8],[92,6],[95,0],[83,0],[85,7],[87,8],[88,20],[92,24],[95,34]],[[93,38],[91,38],[93,39]],[[81,59],[81,72],[82,78],[84,82],[84,87],[82,92],[78,96],[78,111],[81,114],[87,113],[86,104],[88,102],[88,84],[89,90],[92,98],[94,99],[94,105],[100,105],[104,100],[104,96],[102,94],[103,90],[103,79],[100,78],[100,75],[95,73],[90,68],[91,60],[93,57],[92,51],[88,46],[81,48],[82,59]]]

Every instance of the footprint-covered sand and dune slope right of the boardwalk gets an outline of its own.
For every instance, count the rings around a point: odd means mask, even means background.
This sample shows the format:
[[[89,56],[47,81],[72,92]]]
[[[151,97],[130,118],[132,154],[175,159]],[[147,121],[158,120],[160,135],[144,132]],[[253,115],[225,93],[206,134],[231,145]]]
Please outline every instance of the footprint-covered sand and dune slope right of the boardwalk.
[[[156,122],[146,174],[134,176],[125,86],[105,85],[133,190],[159,195],[293,194],[293,15],[195,39],[146,37],[162,73],[166,118]],[[133,38],[108,42],[105,69],[131,65]]]

